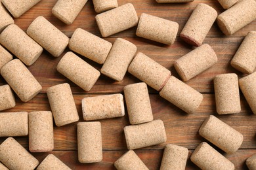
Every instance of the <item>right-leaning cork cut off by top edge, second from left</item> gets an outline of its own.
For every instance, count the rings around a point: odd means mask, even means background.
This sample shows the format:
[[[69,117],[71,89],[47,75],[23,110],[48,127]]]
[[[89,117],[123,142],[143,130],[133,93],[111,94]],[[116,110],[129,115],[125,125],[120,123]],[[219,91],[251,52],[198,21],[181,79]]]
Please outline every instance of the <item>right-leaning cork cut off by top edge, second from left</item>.
[[[85,6],[87,0],[58,0],[53,7],[53,15],[65,24],[72,24]]]

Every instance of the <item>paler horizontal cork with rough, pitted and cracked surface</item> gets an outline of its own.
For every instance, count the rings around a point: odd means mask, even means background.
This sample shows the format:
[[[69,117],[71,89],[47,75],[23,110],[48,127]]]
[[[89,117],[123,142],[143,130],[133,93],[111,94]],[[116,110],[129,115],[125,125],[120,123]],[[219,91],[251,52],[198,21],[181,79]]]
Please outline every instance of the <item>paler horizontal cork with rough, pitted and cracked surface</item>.
[[[123,95],[99,95],[82,99],[84,120],[117,118],[125,115]]]

